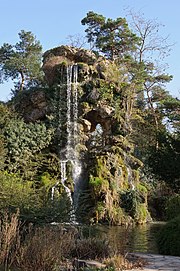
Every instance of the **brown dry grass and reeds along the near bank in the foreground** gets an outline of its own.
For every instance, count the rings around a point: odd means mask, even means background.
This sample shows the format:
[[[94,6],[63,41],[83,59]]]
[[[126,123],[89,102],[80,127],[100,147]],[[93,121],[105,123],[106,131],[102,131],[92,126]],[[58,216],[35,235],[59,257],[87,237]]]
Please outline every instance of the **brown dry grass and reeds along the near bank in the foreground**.
[[[143,266],[141,259],[113,252],[106,240],[83,238],[75,227],[46,226],[28,230],[26,227],[20,231],[18,212],[1,217],[0,265],[3,271],[10,267],[21,271],[72,270],[74,259],[101,261],[106,264],[105,270]]]

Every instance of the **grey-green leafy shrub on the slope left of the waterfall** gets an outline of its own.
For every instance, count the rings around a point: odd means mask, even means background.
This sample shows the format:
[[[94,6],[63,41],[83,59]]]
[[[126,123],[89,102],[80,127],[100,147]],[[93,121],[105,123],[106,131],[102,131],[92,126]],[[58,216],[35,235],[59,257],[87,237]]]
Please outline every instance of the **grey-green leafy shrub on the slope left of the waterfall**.
[[[12,118],[3,133],[9,170],[21,170],[22,174],[26,174],[33,156],[50,144],[53,129],[47,129],[44,123],[25,123],[22,119]]]

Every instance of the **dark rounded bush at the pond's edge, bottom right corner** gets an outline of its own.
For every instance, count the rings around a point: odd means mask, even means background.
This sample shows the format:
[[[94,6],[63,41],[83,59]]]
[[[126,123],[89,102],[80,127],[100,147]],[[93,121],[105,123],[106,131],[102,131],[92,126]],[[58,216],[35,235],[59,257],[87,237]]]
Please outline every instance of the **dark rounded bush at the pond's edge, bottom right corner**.
[[[180,256],[180,216],[170,220],[157,236],[159,253]]]

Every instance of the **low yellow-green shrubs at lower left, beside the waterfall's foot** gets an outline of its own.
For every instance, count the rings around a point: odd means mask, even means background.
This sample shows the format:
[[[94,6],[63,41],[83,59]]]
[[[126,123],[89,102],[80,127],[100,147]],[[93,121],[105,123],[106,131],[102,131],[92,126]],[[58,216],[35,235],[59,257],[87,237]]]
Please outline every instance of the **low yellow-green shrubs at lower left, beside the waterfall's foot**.
[[[44,176],[42,176],[42,179]],[[51,198],[53,181],[47,186],[41,183],[35,187],[34,182],[24,181],[17,174],[0,172],[0,209],[20,211],[20,218],[36,224],[69,221],[70,203],[64,195]]]

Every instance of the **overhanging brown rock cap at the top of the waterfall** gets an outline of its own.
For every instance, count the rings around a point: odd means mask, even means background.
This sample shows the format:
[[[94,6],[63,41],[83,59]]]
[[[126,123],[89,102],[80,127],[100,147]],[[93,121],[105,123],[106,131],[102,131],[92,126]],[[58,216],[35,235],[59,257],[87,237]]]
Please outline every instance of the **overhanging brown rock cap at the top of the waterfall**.
[[[90,50],[63,45],[48,50],[43,56],[43,71],[48,84],[59,83],[61,67],[73,64],[78,65],[78,80],[81,82],[92,78],[112,81],[116,69],[113,62]]]

